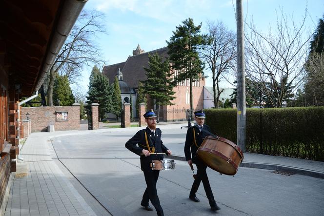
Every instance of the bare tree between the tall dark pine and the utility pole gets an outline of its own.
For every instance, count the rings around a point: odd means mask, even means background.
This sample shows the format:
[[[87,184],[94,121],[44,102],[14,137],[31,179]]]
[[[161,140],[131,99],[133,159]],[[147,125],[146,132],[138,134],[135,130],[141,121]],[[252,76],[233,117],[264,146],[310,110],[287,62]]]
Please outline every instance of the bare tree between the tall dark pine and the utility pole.
[[[207,68],[210,69],[213,78],[214,107],[219,107],[220,90],[219,82],[224,78],[231,64],[235,63],[236,37],[235,33],[228,30],[222,21],[207,22],[210,44],[205,45],[200,52]]]

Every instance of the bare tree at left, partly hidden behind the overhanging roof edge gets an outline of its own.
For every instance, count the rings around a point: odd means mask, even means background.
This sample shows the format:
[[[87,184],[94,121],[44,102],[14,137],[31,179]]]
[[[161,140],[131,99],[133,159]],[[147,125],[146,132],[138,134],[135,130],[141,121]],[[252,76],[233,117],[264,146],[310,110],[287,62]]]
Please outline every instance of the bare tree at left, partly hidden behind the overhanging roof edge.
[[[53,86],[57,73],[67,75],[71,83],[81,75],[81,69],[89,63],[102,64],[101,51],[94,41],[98,33],[104,33],[103,14],[97,11],[82,11],[72,28],[49,73],[47,91],[48,106],[53,106]]]

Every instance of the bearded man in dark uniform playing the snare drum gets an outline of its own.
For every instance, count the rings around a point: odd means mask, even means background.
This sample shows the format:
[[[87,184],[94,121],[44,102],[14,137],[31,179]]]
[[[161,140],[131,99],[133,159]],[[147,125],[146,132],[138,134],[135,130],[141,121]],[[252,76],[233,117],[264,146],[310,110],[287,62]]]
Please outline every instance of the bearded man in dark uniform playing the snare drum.
[[[163,159],[162,154],[154,155],[153,153],[165,153],[171,155],[171,151],[163,145],[161,140],[161,130],[160,128],[156,128],[157,116],[153,110],[147,111],[144,114],[144,118],[147,127],[138,131],[134,137],[130,138],[126,142],[125,147],[141,156],[141,169],[146,181],[146,190],[143,194],[141,205],[145,210],[153,211],[153,209],[148,205],[148,201],[151,200],[158,216],[163,216],[163,210],[156,190],[156,183],[160,171],[152,170],[150,164],[152,160]]]

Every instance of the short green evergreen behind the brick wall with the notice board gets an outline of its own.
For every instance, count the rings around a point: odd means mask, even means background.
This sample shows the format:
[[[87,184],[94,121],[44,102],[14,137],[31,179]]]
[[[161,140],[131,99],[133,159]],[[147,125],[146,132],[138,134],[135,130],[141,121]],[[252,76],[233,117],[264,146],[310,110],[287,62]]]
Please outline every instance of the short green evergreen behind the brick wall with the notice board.
[[[60,106],[71,106],[74,103],[74,96],[66,75],[56,75],[53,89],[53,100],[54,104],[59,105],[60,103]]]

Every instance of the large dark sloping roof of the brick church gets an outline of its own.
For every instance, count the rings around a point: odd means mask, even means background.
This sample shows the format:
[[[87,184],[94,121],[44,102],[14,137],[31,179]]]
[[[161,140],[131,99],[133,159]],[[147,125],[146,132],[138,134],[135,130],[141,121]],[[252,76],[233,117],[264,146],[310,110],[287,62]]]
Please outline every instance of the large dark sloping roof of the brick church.
[[[129,56],[125,62],[103,67],[102,73],[105,74],[109,82],[112,83],[118,73],[118,68],[121,68],[123,81],[126,82],[130,88],[137,88],[140,80],[143,81],[147,79],[144,67],[148,68],[148,54],[154,55],[158,53],[163,58],[166,58],[168,56],[167,52],[168,48],[163,47],[139,55]]]

